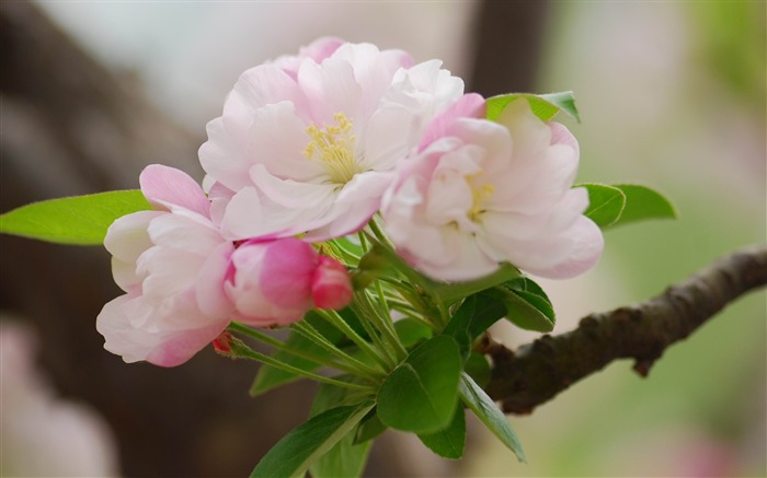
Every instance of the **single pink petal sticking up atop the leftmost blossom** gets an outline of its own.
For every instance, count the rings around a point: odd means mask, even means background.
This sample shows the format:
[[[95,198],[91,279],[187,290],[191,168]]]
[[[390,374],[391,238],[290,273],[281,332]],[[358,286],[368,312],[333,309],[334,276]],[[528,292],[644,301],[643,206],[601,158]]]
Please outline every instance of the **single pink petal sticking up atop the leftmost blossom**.
[[[210,217],[210,202],[203,188],[186,173],[160,164],[150,164],[139,176],[141,193],[158,209],[188,209]]]

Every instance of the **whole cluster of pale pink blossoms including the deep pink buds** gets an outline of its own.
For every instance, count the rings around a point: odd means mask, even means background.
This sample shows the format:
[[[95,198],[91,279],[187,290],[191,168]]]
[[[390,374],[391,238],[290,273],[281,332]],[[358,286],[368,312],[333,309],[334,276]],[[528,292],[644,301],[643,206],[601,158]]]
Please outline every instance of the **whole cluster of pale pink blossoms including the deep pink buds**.
[[[598,259],[602,233],[572,188],[579,147],[527,101],[495,120],[438,60],[322,38],[245,71],[199,149],[203,187],[149,166],[152,211],[105,240],[125,294],[98,328],[126,361],[172,366],[232,319],[282,326],[343,308],[346,266],[321,243],[380,214],[410,266],[466,281],[501,264],[550,278]]]

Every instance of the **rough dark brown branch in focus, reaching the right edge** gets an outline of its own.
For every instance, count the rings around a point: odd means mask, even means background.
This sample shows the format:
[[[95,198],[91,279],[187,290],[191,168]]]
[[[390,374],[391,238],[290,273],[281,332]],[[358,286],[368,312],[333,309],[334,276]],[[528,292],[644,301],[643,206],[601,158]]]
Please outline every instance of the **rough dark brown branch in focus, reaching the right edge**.
[[[488,394],[507,413],[529,413],[616,359],[634,359],[634,370],[645,376],[668,346],[765,284],[767,246],[753,246],[720,258],[646,302],[591,314],[575,330],[546,335],[515,352],[485,336],[482,351],[493,360]]]

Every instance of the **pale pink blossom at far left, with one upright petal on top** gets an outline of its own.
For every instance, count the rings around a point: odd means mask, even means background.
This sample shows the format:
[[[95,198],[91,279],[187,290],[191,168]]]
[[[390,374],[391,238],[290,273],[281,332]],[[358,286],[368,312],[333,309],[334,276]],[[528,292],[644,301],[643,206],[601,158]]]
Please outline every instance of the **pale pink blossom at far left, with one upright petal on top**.
[[[187,361],[229,323],[224,275],[233,245],[209,219],[201,187],[181,171],[148,166],[141,191],[156,208],[116,220],[104,245],[126,293],[104,305],[96,329],[126,362]]]

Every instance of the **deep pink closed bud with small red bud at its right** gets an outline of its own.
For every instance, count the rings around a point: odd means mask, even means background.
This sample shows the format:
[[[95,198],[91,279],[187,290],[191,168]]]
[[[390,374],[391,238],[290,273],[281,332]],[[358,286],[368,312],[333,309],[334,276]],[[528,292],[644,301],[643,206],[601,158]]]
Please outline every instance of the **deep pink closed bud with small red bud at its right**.
[[[242,244],[231,255],[225,290],[232,317],[261,327],[300,320],[314,306],[343,308],[352,299],[346,268],[297,238]]]

